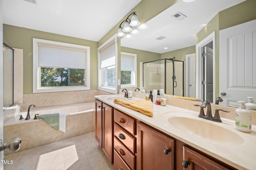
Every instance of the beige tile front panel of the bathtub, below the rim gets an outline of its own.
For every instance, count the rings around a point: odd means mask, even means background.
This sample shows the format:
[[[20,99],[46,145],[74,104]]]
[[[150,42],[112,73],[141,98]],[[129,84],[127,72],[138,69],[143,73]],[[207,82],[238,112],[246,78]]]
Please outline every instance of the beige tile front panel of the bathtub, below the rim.
[[[94,131],[94,111],[67,115],[66,133],[55,131],[42,120],[5,125],[4,141],[10,141],[13,137],[19,136],[22,139],[22,144],[17,152],[21,152],[92,131]],[[8,154],[12,154],[12,152],[5,150],[4,155]]]

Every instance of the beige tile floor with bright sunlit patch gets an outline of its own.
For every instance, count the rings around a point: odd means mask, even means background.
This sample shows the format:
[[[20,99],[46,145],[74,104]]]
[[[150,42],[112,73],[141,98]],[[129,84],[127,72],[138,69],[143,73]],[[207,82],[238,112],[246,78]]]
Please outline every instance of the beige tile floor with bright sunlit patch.
[[[4,170],[113,170],[94,132],[5,156]]]

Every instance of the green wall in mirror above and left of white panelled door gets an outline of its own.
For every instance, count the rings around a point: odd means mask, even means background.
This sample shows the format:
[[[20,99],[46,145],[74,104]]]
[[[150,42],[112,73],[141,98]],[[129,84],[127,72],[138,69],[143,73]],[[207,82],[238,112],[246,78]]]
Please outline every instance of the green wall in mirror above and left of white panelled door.
[[[203,29],[196,34],[196,44],[215,31],[216,38],[216,96],[219,96],[219,31],[256,19],[256,0],[246,0],[220,11]]]

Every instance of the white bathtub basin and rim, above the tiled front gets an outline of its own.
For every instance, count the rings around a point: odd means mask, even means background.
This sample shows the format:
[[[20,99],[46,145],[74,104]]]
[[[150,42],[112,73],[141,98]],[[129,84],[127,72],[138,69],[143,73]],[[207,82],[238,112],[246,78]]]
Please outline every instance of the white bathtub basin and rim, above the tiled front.
[[[70,105],[62,105],[62,106],[51,106],[44,108],[36,108],[30,107],[30,119],[25,120],[28,114],[27,111],[15,113],[15,116],[12,117],[9,121],[4,123],[4,125],[12,125],[16,123],[25,123],[29,121],[37,121],[38,119],[34,119],[36,114],[51,114],[51,113],[60,113],[68,115],[74,115],[79,113],[88,113],[95,110],[94,102],[80,103],[80,104],[70,104]],[[22,115],[23,119],[20,120],[20,115]]]

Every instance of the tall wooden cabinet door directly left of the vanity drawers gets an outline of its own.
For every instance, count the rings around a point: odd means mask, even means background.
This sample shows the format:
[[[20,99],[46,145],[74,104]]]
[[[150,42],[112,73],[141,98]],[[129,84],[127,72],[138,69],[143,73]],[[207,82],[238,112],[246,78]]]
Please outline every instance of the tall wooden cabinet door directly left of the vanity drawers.
[[[102,104],[102,149],[113,164],[113,108]]]

